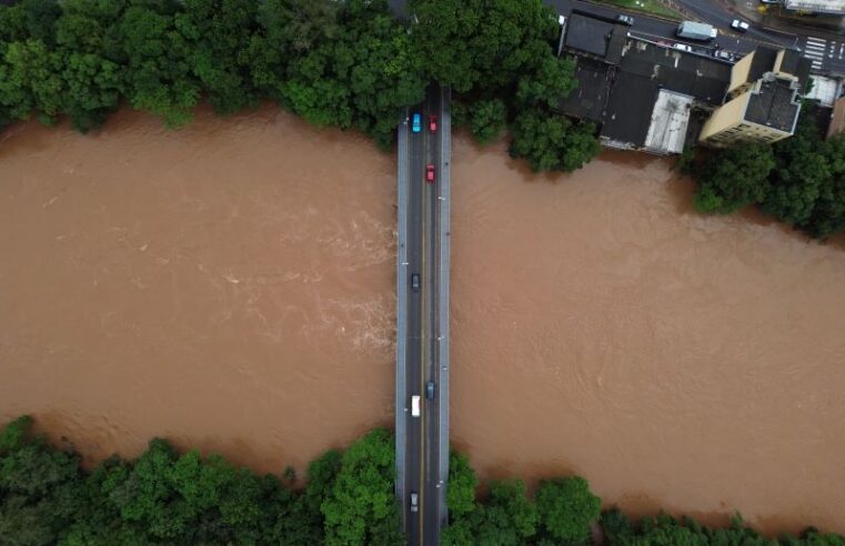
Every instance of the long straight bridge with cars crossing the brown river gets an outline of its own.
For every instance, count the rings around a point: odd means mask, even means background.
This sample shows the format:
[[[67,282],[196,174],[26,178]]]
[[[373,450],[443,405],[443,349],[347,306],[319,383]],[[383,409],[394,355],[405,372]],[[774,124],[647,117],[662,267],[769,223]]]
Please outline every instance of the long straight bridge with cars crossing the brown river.
[[[447,522],[450,101],[431,85],[399,124],[395,491],[411,545],[439,544]]]

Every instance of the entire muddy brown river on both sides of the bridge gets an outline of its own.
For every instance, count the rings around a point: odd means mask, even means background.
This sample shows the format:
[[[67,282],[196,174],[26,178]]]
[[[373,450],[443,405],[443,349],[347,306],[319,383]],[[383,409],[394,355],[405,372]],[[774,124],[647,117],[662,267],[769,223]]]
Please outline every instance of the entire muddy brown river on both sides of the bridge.
[[[705,218],[670,163],[453,155],[452,439],[484,477],[845,532],[845,244]],[[0,422],[262,472],[392,423],[395,161],[275,109],[0,135]],[[64,436],[64,438],[62,438]]]

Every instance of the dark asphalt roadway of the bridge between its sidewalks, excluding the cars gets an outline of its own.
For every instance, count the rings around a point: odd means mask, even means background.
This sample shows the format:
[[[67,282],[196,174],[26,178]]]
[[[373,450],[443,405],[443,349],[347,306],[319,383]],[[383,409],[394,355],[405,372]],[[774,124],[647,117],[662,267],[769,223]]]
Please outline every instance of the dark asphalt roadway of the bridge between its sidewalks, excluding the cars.
[[[432,85],[424,104],[410,112],[405,130],[409,131],[409,211],[408,211],[408,343],[406,343],[406,446],[405,485],[402,502],[409,544],[437,544],[440,537],[439,484],[439,408],[437,388],[437,173],[442,171],[440,132],[429,128],[430,115],[441,118],[440,89]],[[413,114],[421,115],[422,128],[413,132]],[[435,181],[425,180],[426,165],[434,165]],[[419,290],[411,289],[412,275],[420,275]],[[434,383],[434,398],[426,398],[426,384]],[[421,415],[411,412],[412,396],[420,396]],[[418,508],[412,509],[411,495],[418,496]]]

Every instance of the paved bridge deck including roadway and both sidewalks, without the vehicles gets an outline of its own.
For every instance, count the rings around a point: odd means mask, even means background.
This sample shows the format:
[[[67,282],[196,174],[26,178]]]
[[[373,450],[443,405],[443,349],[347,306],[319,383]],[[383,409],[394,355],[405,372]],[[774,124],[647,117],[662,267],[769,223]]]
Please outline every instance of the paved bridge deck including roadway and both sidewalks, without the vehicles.
[[[414,113],[421,114],[420,132],[412,130]],[[436,115],[435,132],[429,128],[430,115]],[[402,302],[405,303],[406,315],[403,318],[406,327],[399,327],[400,335],[404,333],[404,343],[398,344],[400,352],[404,346],[404,354],[398,354],[398,361],[403,361],[404,364],[404,377],[398,376],[396,383],[398,393],[399,385],[404,386],[404,403],[396,426],[398,479],[402,482],[398,484],[396,492],[402,498],[403,520],[412,545],[437,544],[445,516],[445,468],[442,469],[441,433],[447,423],[441,421],[441,401],[447,408],[447,390],[441,390],[441,384],[444,378],[447,384],[447,377],[444,377],[444,372],[447,371],[442,370],[444,355],[440,347],[446,333],[442,327],[444,314],[441,313],[441,279],[443,271],[447,275],[447,266],[441,267],[440,237],[442,202],[447,199],[447,193],[442,192],[441,176],[447,165],[441,160],[442,119],[442,92],[439,87],[432,85],[425,103],[412,109],[409,121],[400,125],[400,132],[404,132],[400,134],[400,140],[405,144],[400,146],[400,153],[405,154],[399,159],[400,184],[405,176],[408,209],[404,211],[406,239],[402,241],[402,233],[400,234],[400,245],[404,246],[400,252],[399,271],[403,277],[400,277],[399,297],[400,313]],[[429,164],[434,165],[434,183],[425,180]],[[400,193],[403,193],[402,189]],[[400,205],[402,201],[400,199]],[[400,232],[402,231],[400,226]],[[404,254],[402,250],[405,251]],[[413,275],[419,275],[419,287],[412,283]],[[447,355],[445,356],[447,362]],[[398,365],[398,374],[401,373],[401,367]],[[429,383],[434,386],[432,398],[426,397]],[[412,415],[413,396],[420,396],[421,414],[418,417]],[[447,438],[447,434],[443,436]],[[443,446],[445,453],[447,448],[446,442]],[[416,510],[412,508],[411,502],[414,494],[418,499]]]

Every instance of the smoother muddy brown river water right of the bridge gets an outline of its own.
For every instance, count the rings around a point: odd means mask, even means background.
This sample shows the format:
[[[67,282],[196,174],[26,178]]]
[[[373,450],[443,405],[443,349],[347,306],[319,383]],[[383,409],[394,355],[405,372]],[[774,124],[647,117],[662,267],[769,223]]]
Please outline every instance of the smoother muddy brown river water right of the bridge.
[[[485,476],[845,532],[845,250],[701,216],[671,163],[453,154],[452,441]]]

